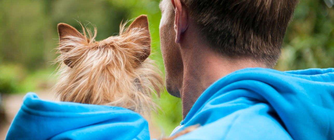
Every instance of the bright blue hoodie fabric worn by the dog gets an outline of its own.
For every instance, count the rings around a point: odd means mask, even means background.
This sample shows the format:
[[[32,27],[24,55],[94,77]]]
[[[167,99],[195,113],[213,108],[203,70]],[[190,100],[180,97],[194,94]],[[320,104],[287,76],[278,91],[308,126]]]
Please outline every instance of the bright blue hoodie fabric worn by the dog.
[[[23,99],[6,140],[150,140],[148,123],[122,107]]]

